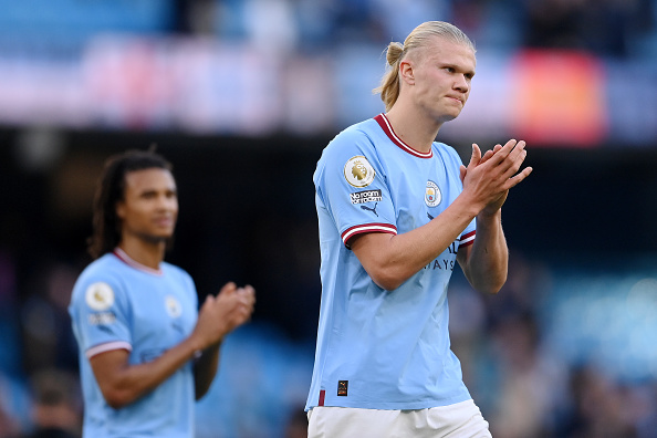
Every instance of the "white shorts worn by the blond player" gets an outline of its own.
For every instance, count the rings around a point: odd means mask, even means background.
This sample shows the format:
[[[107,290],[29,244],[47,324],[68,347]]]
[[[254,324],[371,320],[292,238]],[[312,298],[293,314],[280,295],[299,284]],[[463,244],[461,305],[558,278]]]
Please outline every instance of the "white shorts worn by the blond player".
[[[473,400],[413,410],[317,406],[307,419],[309,438],[492,438]]]

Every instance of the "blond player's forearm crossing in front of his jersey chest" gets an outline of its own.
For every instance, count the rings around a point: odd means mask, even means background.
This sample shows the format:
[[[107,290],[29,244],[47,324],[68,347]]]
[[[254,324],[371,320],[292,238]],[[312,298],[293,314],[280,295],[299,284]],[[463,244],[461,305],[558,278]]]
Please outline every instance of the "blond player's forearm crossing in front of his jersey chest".
[[[452,244],[477,212],[470,201],[459,197],[421,227],[393,237],[365,234],[354,239],[352,250],[376,284],[393,290]]]

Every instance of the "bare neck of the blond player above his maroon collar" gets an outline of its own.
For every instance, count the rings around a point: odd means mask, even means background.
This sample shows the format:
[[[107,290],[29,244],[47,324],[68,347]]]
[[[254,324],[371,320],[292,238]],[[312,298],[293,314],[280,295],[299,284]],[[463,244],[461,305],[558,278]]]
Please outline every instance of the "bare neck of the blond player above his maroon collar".
[[[420,153],[431,150],[438,129],[442,126],[441,123],[427,118],[426,114],[415,111],[413,106],[404,105],[403,102],[395,103],[386,116],[395,134]]]

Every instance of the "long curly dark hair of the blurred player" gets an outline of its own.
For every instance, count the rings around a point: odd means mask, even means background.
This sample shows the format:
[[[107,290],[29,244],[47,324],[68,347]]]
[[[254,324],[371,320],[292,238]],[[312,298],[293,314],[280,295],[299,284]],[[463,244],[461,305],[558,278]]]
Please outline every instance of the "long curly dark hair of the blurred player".
[[[127,150],[107,158],[94,195],[93,234],[87,240],[87,251],[92,258],[97,259],[113,251],[121,242],[116,204],[125,196],[125,176],[131,171],[152,168],[173,170],[171,164],[153,148]]]

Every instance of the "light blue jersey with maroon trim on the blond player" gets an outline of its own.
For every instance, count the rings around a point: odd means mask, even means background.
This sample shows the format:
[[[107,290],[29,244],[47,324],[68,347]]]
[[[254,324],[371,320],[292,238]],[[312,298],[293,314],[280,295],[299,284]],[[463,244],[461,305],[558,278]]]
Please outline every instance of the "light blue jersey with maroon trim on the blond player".
[[[394,291],[376,285],[348,239],[404,233],[440,215],[462,191],[461,159],[398,138],[386,116],[348,127],[324,149],[313,176],[322,301],[306,410],[315,406],[423,409],[470,399],[450,350],[447,286],[472,221],[438,258]]]

